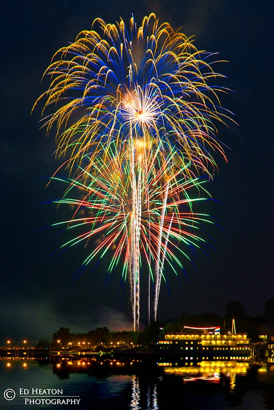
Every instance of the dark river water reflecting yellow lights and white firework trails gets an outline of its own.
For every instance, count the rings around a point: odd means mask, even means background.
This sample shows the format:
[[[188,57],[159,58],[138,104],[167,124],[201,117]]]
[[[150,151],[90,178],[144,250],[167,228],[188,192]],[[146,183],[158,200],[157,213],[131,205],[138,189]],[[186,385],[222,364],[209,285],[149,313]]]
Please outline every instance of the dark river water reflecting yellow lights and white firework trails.
[[[137,363],[135,363],[137,364]],[[0,360],[0,409],[274,409],[274,364]]]

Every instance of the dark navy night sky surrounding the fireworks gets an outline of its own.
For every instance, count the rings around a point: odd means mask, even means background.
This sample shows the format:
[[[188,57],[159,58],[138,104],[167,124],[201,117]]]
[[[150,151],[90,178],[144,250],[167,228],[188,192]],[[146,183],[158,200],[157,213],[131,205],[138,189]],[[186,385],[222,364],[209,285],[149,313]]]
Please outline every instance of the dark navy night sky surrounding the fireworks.
[[[51,201],[64,186],[48,178],[56,170],[54,136],[40,129],[41,106],[30,115],[55,51],[88,30],[94,18],[125,22],[131,12],[138,23],[155,12],[161,22],[195,36],[195,46],[219,52],[228,60],[216,67],[233,90],[222,98],[239,127],[221,128],[228,163],[217,156],[219,173],[208,185],[214,201],[206,212],[217,226],[207,228],[207,254],[185,263],[181,284],[168,275],[162,285],[159,319],[215,312],[240,300],[249,315],[263,314],[274,297],[273,255],[273,44],[271,2],[254,0],[25,0],[2,6],[1,15],[1,285],[0,344],[7,338],[50,339],[60,326],[88,332],[106,325],[131,329],[129,293],[119,293],[121,275],[105,283],[103,261],[77,278],[85,258],[78,247],[57,256],[67,237],[50,228],[68,215]],[[264,4],[264,7],[263,7]],[[272,26],[273,27],[273,26]],[[141,318],[146,312],[146,278],[142,283]]]

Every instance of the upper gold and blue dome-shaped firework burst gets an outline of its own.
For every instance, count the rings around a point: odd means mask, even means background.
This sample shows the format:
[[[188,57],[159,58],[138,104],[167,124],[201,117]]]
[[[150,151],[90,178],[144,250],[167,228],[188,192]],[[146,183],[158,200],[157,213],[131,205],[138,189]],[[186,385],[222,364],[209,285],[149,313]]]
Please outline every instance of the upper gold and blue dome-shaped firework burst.
[[[95,31],[95,27],[99,26]],[[193,39],[154,14],[139,29],[95,19],[74,43],[59,50],[45,75],[51,78],[44,125],[56,125],[57,155],[68,153],[67,165],[97,156],[101,144],[113,140],[120,151],[130,138],[146,134],[162,148],[173,146],[197,169],[209,172],[212,152],[223,148],[216,120],[223,121],[217,93],[210,81],[222,77],[207,61],[211,53],[198,51]]]

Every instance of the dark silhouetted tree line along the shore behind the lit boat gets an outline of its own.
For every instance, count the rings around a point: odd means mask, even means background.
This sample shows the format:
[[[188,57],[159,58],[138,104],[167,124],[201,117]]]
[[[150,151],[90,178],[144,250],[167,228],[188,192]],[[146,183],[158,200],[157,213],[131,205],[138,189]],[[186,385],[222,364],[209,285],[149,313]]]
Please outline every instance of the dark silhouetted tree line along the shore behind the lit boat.
[[[262,323],[274,323],[274,298],[265,302],[264,315],[251,317],[246,313],[244,305],[239,300],[233,300],[225,306],[225,315],[217,313],[202,313],[189,315],[182,312],[171,322],[156,321],[146,326],[142,332],[122,331],[111,332],[107,327],[97,327],[88,333],[70,333],[68,327],[60,327],[52,336],[55,346],[78,346],[79,348],[134,348],[146,346],[159,340],[164,334],[180,334],[184,326],[221,326],[231,330],[232,318],[236,321],[237,333],[247,333],[252,341],[259,341],[258,327]],[[50,342],[40,340],[38,345],[49,345]]]

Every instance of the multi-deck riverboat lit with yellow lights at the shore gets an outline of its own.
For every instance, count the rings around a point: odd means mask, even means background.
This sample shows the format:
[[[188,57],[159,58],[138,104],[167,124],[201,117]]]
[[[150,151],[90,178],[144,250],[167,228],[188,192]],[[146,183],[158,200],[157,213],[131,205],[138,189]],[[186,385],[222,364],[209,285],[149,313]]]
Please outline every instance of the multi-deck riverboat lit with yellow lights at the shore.
[[[236,334],[236,329],[221,332],[220,327],[184,326],[180,335],[164,335],[157,351],[163,356],[189,356],[193,360],[249,360],[252,344],[247,335]]]

